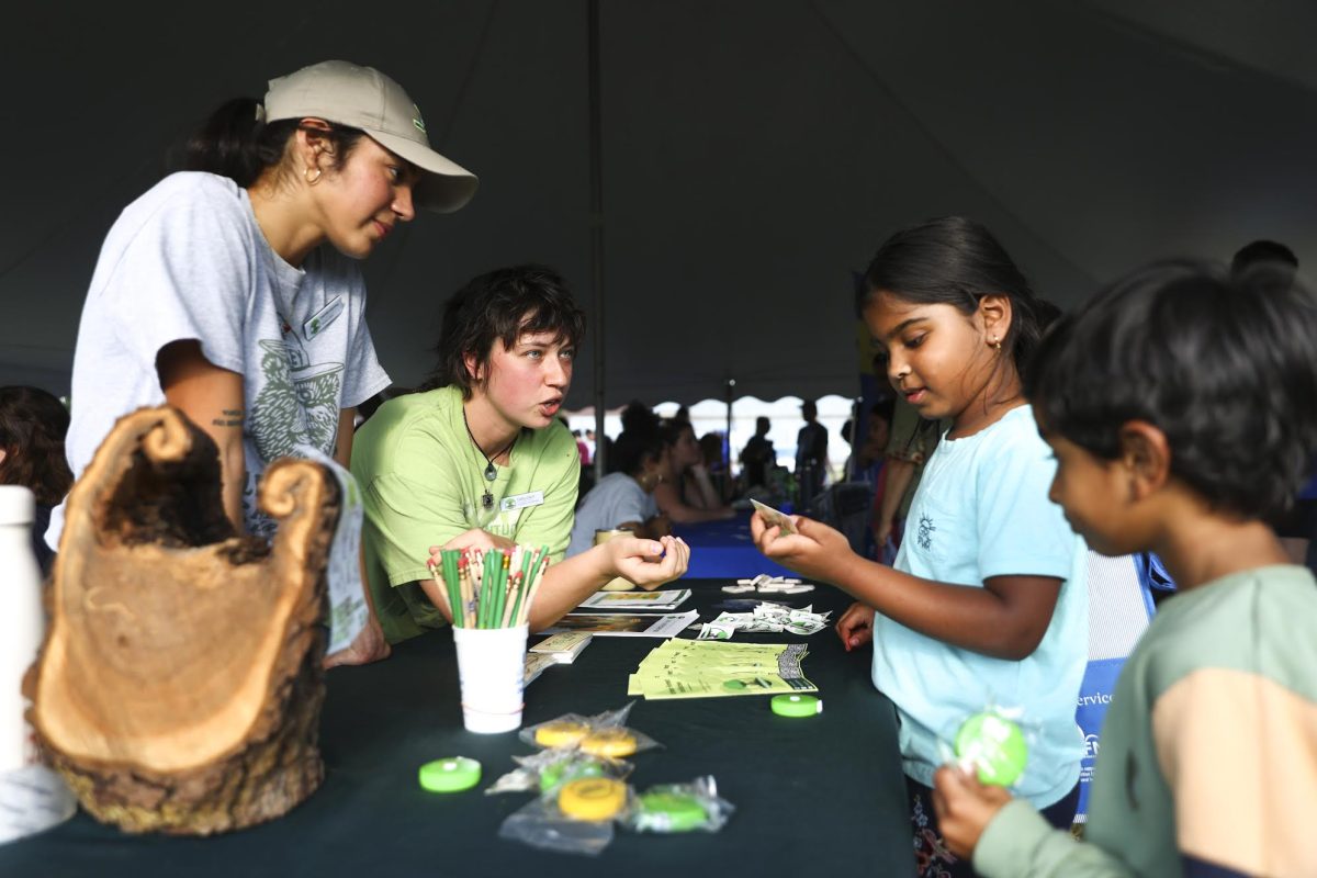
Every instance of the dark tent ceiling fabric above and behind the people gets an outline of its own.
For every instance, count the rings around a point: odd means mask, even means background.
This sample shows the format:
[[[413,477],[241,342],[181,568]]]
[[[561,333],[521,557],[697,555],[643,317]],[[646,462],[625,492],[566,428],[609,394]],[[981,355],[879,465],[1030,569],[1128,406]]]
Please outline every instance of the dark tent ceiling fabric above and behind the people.
[[[607,404],[856,392],[852,271],[965,213],[1062,305],[1158,255],[1317,261],[1317,12],[1299,1],[601,4]],[[0,380],[66,390],[115,216],[166,145],[323,58],[378,66],[481,175],[365,263],[399,384],[444,299],[536,261],[590,309],[586,4],[25,4],[0,236]],[[14,83],[26,83],[17,88]],[[598,328],[591,326],[591,332]],[[569,407],[593,398],[590,346]]]

